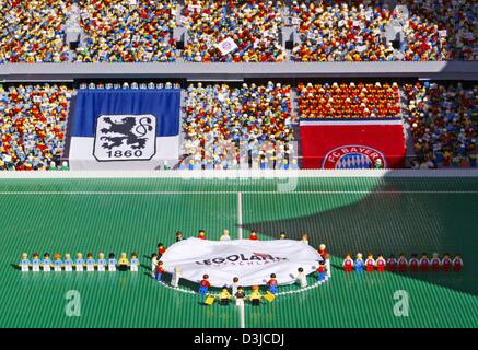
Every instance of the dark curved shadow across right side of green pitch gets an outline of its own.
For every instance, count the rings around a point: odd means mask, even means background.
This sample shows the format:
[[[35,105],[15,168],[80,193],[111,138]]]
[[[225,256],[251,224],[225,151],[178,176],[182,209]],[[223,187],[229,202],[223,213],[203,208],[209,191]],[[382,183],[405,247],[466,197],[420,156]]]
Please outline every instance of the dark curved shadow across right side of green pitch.
[[[470,184],[470,188],[477,190],[478,179],[467,182],[466,185]],[[433,252],[440,255],[450,253],[452,256],[460,254],[465,268],[459,273],[399,275],[477,295],[478,260],[474,222],[478,218],[478,198],[474,194],[443,192],[466,190],[464,186],[463,179],[453,183],[447,178],[404,180],[384,177],[370,195],[354,203],[289,220],[266,221],[265,218],[265,221],[245,223],[243,228],[275,238],[281,231],[285,231],[291,240],[300,240],[303,233],[307,233],[311,245],[317,247],[326,243],[327,249],[338,258],[347,253],[354,256],[357,252],[361,252],[364,258],[368,253],[374,256],[383,254],[385,258],[389,254],[397,256],[400,253],[407,257],[413,253],[419,256],[421,253],[430,256]],[[314,206],[317,198],[307,202],[307,196],[312,195],[301,197],[304,198],[302,205]],[[271,198],[280,200],[277,196]],[[264,200],[267,207],[267,199]],[[247,212],[244,214],[247,218]],[[341,269],[341,266],[335,267]]]

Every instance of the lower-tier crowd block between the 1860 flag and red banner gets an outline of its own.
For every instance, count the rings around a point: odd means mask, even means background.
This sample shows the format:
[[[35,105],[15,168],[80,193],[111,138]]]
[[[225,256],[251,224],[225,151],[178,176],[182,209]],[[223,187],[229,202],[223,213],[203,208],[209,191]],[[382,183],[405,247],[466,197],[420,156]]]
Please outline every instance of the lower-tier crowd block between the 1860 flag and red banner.
[[[190,85],[182,168],[296,167],[290,94],[289,85],[271,82]]]

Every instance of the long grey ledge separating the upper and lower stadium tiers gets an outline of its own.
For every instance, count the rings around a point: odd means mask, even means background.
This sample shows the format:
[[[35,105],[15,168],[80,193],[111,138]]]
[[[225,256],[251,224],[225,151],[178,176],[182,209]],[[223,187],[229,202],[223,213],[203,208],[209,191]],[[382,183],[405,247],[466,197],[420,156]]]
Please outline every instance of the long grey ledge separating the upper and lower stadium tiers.
[[[166,78],[218,81],[267,78],[413,77],[431,80],[478,80],[478,61],[277,62],[277,63],[5,63],[4,82],[94,78]]]

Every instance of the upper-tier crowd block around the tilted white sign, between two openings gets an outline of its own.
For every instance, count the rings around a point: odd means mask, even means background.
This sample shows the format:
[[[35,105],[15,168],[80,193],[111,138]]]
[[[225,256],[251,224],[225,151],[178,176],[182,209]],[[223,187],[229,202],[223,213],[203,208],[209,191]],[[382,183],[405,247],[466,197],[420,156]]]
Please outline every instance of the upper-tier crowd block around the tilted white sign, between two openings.
[[[189,42],[183,56],[196,62],[277,62],[285,60],[279,40],[281,1],[187,0],[184,24]],[[224,40],[231,46],[218,48]],[[237,46],[234,49],[234,45]]]

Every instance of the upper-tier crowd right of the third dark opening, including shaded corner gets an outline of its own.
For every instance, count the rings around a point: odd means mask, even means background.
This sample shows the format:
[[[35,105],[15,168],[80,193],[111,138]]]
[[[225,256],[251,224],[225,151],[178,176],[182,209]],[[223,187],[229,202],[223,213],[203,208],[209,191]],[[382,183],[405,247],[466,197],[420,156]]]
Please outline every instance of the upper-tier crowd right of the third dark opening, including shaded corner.
[[[301,42],[292,50],[296,61],[436,61],[476,59],[473,4],[452,1],[406,1],[410,13],[383,1],[348,4],[338,1],[294,1],[293,22]],[[436,16],[419,3],[440,9]],[[445,3],[444,3],[445,2]],[[456,2],[456,1],[453,1]],[[400,1],[397,2],[400,4]],[[444,15],[445,14],[445,15]],[[381,34],[400,27],[403,40],[385,44]],[[458,35],[456,35],[459,33]],[[466,34],[465,34],[466,33]]]

